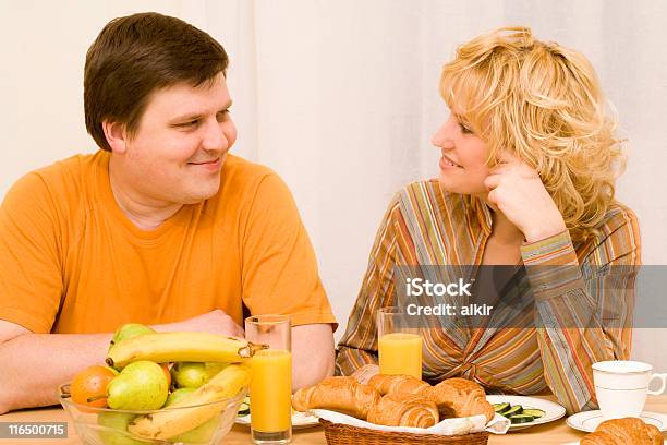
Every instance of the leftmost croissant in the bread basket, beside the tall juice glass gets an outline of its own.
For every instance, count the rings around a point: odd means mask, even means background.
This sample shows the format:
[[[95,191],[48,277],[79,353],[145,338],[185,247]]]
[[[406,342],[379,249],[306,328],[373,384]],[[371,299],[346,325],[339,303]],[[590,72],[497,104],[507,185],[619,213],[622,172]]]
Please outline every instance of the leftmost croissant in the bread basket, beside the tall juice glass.
[[[362,385],[354,377],[328,377],[294,393],[292,407],[296,411],[330,409],[365,420],[368,410],[377,405],[380,394],[373,386]]]

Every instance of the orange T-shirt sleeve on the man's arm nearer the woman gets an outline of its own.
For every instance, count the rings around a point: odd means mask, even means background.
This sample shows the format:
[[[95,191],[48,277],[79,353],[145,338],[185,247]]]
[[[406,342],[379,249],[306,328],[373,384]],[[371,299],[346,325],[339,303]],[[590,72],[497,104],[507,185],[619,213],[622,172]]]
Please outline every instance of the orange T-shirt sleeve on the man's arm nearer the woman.
[[[292,325],[336,325],[313,246],[284,182],[266,175],[248,199],[241,231],[245,306],[251,314],[290,315]]]

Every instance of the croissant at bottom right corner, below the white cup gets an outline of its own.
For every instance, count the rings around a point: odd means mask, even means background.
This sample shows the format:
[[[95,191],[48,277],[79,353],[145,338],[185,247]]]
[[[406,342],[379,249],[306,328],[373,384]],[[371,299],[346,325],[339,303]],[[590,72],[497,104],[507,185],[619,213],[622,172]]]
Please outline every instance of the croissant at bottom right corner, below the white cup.
[[[663,445],[663,435],[654,425],[641,419],[623,418],[602,422],[595,432],[586,434],[581,445]]]

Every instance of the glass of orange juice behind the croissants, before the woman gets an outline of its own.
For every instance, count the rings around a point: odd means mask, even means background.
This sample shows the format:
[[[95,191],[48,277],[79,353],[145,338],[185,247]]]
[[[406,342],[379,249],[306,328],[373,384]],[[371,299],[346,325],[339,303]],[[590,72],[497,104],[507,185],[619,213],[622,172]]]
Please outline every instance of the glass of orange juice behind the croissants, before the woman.
[[[408,325],[401,308],[377,311],[377,349],[380,374],[422,378],[422,335]]]

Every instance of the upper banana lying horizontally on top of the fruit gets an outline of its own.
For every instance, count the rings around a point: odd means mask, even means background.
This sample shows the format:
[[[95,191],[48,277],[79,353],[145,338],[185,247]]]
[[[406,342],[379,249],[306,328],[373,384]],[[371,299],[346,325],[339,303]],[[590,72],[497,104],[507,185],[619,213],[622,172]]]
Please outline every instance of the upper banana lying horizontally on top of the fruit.
[[[266,349],[241,338],[209,333],[155,333],[121,341],[107,352],[107,364],[123,368],[136,360],[240,363]]]

